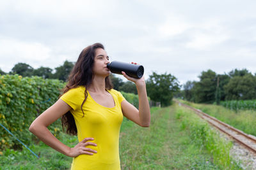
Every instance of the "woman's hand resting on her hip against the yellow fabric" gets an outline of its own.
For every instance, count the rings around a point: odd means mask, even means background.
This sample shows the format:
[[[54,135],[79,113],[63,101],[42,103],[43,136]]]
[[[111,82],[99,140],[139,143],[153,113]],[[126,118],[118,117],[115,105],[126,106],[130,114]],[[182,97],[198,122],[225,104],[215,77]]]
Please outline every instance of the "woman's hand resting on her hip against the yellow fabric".
[[[67,154],[69,157],[77,157],[81,154],[93,155],[93,153],[97,153],[97,151],[92,150],[91,148],[86,148],[88,145],[97,146],[96,143],[92,143],[93,138],[84,138],[83,141],[77,143],[74,148],[70,148],[70,152]]]

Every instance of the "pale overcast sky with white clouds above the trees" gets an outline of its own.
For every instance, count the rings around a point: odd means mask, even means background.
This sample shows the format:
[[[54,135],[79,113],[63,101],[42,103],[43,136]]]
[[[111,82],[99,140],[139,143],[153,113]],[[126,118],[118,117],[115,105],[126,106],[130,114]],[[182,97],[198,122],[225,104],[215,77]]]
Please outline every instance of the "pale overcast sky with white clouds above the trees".
[[[0,68],[76,61],[102,43],[110,60],[138,62],[180,81],[202,71],[256,73],[256,1],[3,1]],[[121,76],[118,76],[121,77]]]

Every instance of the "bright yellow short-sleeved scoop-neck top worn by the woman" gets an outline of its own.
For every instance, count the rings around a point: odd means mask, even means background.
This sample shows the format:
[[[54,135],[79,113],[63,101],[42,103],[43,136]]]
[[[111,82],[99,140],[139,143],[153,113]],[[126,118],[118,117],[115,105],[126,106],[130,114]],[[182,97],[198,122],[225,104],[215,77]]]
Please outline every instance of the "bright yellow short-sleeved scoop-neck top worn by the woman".
[[[91,141],[97,146],[88,145],[86,147],[96,150],[93,155],[79,155],[72,162],[72,170],[80,169],[120,169],[119,157],[119,132],[123,121],[121,103],[124,100],[122,94],[114,89],[108,90],[115,101],[115,107],[106,108],[96,103],[88,92],[86,102],[84,100],[83,86],[70,89],[60,97],[72,110],[77,127],[77,137],[79,142],[84,138],[93,138]]]

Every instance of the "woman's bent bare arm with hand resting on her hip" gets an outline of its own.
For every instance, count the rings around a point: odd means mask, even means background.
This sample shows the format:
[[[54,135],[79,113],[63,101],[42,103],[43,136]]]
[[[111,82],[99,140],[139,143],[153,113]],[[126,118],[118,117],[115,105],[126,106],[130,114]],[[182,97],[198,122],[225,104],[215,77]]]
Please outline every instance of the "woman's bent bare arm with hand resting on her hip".
[[[88,142],[89,140],[93,140],[93,138],[84,138],[83,141],[78,143],[74,148],[70,148],[61,143],[61,141],[55,138],[49,129],[47,129],[49,125],[58,120],[58,118],[67,113],[70,109],[71,107],[67,103],[59,99],[34,120],[29,127],[29,131],[35,134],[35,136],[41,139],[46,145],[51,146],[54,150],[69,157],[76,157],[80,154],[93,155],[92,152],[96,153],[96,151],[85,147],[87,145],[96,146],[95,143]]]

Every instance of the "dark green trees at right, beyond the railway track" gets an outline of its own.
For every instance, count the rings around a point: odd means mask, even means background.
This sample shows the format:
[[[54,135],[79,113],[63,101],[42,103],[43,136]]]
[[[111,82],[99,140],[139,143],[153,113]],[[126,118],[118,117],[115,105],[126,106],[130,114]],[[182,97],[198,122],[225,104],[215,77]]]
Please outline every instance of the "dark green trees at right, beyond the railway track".
[[[234,69],[216,74],[211,69],[202,71],[199,81],[187,81],[182,96],[195,103],[216,103],[230,100],[256,99],[256,75],[247,69]]]

